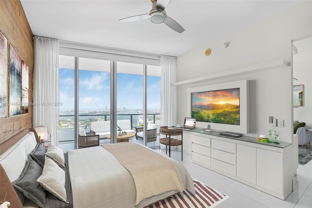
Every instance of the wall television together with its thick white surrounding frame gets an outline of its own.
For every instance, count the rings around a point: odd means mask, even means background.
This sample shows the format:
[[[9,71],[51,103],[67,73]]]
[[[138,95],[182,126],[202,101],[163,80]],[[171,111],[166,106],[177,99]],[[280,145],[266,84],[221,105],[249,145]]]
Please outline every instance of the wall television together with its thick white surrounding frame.
[[[196,127],[249,133],[249,81],[216,83],[187,89],[187,115]]]

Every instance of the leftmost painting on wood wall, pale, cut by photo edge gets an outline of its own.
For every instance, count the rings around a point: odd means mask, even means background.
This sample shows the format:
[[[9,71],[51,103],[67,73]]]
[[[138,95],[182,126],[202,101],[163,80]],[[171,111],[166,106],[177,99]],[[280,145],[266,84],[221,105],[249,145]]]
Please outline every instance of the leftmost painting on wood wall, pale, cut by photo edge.
[[[0,118],[7,117],[8,40],[0,31]]]

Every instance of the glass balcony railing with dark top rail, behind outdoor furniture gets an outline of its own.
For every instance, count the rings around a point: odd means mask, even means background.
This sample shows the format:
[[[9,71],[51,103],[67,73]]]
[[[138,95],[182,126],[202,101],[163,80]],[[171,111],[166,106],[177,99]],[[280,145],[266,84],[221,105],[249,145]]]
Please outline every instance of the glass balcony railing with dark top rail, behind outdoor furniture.
[[[86,132],[90,132],[91,122],[109,121],[110,114],[87,114],[79,115],[79,128],[84,128]],[[138,127],[143,122],[143,114],[117,114],[117,120],[130,120],[131,127]],[[160,113],[148,113],[147,122],[156,124],[157,129],[160,125]],[[74,115],[59,115],[59,142],[74,141]],[[157,130],[158,132],[158,130]]]

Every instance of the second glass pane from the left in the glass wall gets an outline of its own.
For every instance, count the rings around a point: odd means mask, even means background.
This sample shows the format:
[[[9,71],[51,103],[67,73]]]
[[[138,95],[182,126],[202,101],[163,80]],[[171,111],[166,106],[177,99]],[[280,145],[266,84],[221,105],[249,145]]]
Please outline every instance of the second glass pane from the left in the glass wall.
[[[78,127],[90,132],[91,122],[110,120],[110,61],[79,58],[78,68]]]

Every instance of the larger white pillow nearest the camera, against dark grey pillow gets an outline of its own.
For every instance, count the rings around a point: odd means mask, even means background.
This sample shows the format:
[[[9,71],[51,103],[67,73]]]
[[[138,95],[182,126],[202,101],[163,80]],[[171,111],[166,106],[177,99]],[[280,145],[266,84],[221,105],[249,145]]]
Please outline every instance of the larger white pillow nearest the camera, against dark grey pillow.
[[[54,196],[68,203],[65,189],[65,171],[52,159],[48,157],[45,158],[42,175],[37,181]]]

